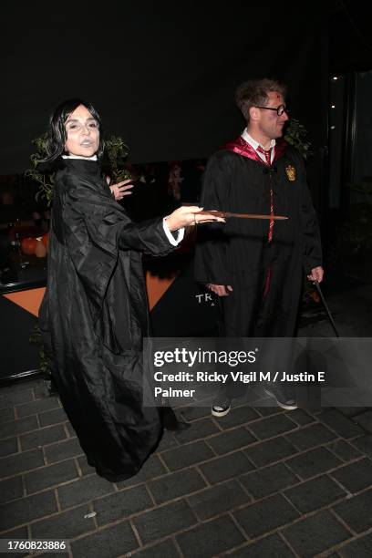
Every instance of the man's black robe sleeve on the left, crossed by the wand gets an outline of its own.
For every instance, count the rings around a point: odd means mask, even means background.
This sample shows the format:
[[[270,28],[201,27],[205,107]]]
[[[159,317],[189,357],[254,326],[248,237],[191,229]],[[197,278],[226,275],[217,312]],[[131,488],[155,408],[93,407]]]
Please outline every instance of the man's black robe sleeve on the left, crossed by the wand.
[[[201,205],[206,210],[227,211],[231,188],[231,156],[218,152],[208,161],[202,181]],[[198,230],[194,273],[196,281],[204,284],[231,284],[226,249],[229,243],[226,225],[206,223]]]

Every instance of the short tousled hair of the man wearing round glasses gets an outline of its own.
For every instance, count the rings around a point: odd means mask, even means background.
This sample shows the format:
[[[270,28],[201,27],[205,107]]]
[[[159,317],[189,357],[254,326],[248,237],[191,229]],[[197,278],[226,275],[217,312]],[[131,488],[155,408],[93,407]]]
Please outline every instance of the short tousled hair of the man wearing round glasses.
[[[244,81],[235,91],[235,102],[243,112],[247,122],[250,120],[249,109],[251,107],[265,107],[269,101],[267,93],[275,91],[285,97],[286,88],[283,83],[275,79],[249,79]]]

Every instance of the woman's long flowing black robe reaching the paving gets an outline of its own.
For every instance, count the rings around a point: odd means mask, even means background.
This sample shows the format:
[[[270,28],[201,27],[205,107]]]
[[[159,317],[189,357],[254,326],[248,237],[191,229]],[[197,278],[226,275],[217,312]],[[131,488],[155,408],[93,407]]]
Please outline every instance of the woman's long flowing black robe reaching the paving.
[[[142,406],[149,333],[141,253],[173,246],[162,220],[130,222],[92,160],[63,160],[55,180],[40,328],[52,376],[88,463],[111,481],[134,475],[160,439]]]

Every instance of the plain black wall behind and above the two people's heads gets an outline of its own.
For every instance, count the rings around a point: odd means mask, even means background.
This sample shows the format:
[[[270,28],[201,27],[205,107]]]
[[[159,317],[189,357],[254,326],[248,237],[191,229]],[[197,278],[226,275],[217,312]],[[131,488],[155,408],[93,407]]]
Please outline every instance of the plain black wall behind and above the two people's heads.
[[[326,14],[309,3],[2,3],[0,174],[24,171],[31,140],[65,98],[90,99],[129,160],[208,156],[239,134],[246,78],[284,79],[295,118],[325,141]]]

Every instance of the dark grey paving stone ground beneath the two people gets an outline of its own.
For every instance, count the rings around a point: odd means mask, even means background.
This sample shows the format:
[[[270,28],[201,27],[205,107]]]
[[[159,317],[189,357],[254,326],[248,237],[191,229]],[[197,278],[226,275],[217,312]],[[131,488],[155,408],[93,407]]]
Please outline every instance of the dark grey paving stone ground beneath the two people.
[[[47,555],[74,558],[372,555],[370,408],[181,412],[191,429],[116,484],[42,379],[2,387],[0,538],[67,539]]]

